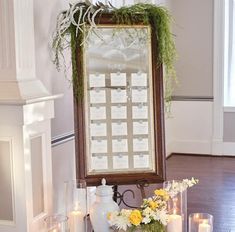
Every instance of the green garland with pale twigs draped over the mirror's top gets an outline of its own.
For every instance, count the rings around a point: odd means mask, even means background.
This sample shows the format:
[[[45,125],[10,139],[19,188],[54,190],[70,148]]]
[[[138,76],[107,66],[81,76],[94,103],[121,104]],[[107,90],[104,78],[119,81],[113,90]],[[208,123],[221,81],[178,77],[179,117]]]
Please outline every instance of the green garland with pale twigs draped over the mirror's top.
[[[58,15],[52,46],[54,50],[53,62],[58,70],[61,66],[64,66],[66,70],[64,51],[68,48],[71,49],[74,95],[83,96],[83,76],[78,76],[78,73],[83,72],[77,70],[76,49],[86,42],[92,30],[95,31],[97,17],[102,13],[110,12],[112,12],[114,20],[118,24],[131,25],[142,21],[145,25],[151,25],[153,31],[155,31],[158,44],[156,51],[157,65],[164,64],[165,102],[169,102],[172,93],[172,80],[176,80],[174,69],[176,49],[170,31],[171,15],[164,7],[144,3],[115,8],[110,3],[105,5],[99,2],[93,5],[89,1],[77,2]],[[85,30],[84,25],[86,24],[90,25],[89,31]],[[82,56],[82,52],[80,53],[79,55]]]

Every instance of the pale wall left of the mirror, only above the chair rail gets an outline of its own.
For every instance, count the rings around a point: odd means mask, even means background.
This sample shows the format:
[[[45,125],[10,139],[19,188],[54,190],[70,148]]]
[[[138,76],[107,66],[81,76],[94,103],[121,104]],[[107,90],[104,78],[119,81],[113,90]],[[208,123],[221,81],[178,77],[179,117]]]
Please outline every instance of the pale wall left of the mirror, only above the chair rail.
[[[52,63],[51,41],[58,13],[68,8],[67,0],[34,0],[36,75],[53,93],[63,93],[55,102],[56,118],[52,120],[52,137],[73,131],[73,100],[71,83],[63,70],[57,72]],[[70,78],[70,72],[67,75]]]

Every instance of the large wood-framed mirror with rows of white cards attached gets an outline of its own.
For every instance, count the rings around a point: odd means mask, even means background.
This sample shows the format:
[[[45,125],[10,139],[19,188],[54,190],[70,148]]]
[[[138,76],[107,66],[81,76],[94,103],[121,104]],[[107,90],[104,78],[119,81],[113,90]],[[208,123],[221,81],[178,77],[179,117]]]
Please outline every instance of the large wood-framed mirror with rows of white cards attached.
[[[162,67],[149,25],[92,29],[80,49],[84,97],[75,101],[77,175],[88,185],[162,182]]]

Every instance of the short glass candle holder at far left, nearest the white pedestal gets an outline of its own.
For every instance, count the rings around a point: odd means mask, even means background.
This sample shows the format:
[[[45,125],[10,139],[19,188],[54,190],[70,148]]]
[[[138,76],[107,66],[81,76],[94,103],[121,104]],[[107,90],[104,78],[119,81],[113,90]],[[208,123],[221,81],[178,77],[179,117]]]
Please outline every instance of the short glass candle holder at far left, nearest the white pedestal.
[[[50,215],[44,219],[46,232],[69,232],[68,217],[64,215]]]

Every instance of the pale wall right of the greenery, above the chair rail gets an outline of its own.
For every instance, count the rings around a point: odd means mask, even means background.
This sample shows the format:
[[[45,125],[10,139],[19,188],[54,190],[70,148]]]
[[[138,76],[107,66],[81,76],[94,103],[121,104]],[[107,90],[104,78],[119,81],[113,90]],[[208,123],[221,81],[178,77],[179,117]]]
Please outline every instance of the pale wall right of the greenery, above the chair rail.
[[[175,96],[213,96],[213,0],[171,0],[179,85]]]

